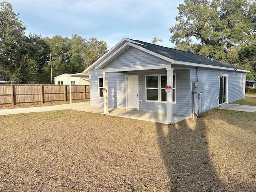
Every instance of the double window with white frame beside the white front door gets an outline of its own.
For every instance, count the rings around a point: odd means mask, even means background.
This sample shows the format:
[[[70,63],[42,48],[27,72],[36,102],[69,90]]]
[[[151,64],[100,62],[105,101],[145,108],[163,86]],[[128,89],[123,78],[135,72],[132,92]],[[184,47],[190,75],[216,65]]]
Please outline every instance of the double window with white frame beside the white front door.
[[[172,84],[172,102],[176,102],[176,74],[173,74]],[[146,75],[146,100],[152,102],[166,102],[167,76]]]

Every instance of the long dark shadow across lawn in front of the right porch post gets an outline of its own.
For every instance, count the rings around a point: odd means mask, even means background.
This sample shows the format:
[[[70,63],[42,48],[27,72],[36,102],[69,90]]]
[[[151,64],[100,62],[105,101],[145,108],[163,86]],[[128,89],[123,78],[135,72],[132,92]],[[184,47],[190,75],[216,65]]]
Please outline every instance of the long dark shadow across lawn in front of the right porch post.
[[[203,122],[183,120],[169,126],[156,123],[156,128],[170,191],[225,191],[209,154],[208,128]]]

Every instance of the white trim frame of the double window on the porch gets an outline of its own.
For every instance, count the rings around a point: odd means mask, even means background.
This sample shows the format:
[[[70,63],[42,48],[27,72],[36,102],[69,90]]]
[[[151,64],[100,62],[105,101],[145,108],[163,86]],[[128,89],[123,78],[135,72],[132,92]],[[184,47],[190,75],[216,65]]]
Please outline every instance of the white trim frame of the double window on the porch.
[[[162,101],[162,88],[161,87],[161,76],[166,76],[167,74],[151,74],[151,75],[145,75],[145,95],[146,95],[146,102],[157,102],[157,103],[166,103],[166,101]],[[147,88],[147,77],[148,76],[158,76],[158,88]],[[174,86],[172,90],[175,90],[174,92],[174,101],[173,104],[176,104],[176,73],[173,74],[174,76]],[[158,89],[158,100],[147,100],[147,89]]]

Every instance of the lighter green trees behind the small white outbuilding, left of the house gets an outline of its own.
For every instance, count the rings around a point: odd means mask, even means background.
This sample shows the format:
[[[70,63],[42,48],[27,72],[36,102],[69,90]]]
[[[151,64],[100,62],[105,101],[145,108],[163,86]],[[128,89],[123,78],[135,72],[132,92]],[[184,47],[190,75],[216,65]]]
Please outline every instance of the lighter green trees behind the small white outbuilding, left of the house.
[[[82,72],[107,51],[106,42],[96,38],[86,40],[76,34],[71,39],[56,35],[44,40],[52,53],[53,76]]]

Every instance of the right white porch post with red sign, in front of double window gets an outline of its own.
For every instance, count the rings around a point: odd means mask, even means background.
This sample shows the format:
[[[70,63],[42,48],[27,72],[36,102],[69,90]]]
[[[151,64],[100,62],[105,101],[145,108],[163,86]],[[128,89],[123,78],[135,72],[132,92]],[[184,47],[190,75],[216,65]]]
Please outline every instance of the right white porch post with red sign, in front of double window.
[[[173,68],[167,68],[167,86],[172,87],[172,78],[173,78]],[[166,93],[166,124],[172,123],[172,92]]]

